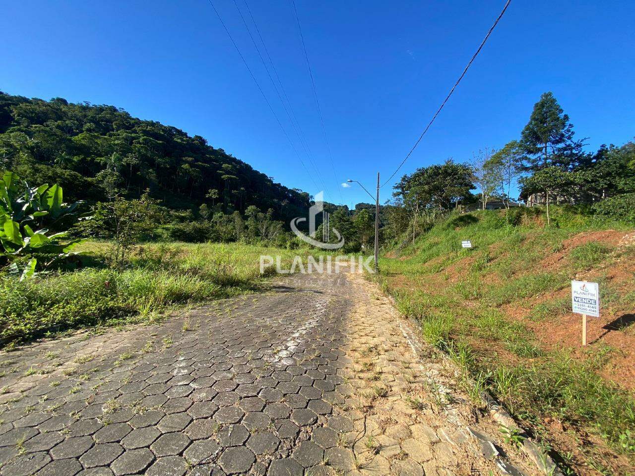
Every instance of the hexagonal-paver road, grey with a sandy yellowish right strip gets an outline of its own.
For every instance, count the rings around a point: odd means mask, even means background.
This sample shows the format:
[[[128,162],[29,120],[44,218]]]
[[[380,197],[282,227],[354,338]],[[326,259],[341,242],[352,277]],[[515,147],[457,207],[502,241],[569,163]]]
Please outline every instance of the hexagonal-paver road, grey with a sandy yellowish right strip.
[[[163,324],[0,353],[0,475],[497,472],[427,402],[425,369],[368,286],[298,275]]]

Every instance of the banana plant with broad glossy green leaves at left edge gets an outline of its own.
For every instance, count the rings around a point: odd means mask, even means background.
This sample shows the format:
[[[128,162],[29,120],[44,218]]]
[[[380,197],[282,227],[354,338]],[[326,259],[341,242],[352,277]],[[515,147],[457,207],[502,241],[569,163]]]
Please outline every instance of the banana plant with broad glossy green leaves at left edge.
[[[47,267],[53,261],[77,254],[73,250],[81,239],[64,240],[67,232],[50,234],[43,223],[46,220],[55,225],[62,218],[76,215],[80,203],[66,204],[59,185],[29,187],[26,182],[20,183],[15,173],[4,173],[0,179],[0,256],[13,261],[24,256],[54,255],[44,263]],[[36,263],[37,258],[31,258],[20,279],[32,277]],[[10,272],[19,274],[16,263],[11,265]]]

